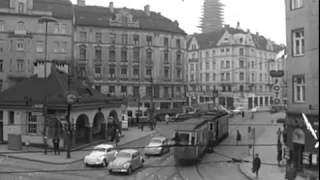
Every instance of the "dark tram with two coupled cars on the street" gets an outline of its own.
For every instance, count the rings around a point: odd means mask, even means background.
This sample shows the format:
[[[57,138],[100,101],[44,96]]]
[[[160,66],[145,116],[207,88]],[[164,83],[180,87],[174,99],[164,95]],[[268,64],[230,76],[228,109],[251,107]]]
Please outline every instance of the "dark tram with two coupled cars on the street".
[[[228,137],[229,114],[208,112],[199,118],[191,118],[175,126],[179,145],[174,146],[178,161],[197,161],[208,148],[220,144]]]

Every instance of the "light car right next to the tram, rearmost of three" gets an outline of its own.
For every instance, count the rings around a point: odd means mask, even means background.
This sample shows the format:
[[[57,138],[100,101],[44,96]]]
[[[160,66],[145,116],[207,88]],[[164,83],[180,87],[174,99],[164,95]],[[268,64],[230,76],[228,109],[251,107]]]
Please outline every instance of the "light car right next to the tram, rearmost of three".
[[[154,137],[144,148],[145,155],[161,155],[170,151],[168,138]]]

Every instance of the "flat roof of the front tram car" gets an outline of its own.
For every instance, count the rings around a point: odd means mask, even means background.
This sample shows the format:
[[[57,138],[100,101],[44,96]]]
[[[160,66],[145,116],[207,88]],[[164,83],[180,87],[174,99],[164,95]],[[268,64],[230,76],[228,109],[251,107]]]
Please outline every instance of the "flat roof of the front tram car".
[[[175,125],[175,131],[194,131],[198,127],[202,126],[203,124],[207,123],[208,120],[205,118],[191,118],[180,122]]]

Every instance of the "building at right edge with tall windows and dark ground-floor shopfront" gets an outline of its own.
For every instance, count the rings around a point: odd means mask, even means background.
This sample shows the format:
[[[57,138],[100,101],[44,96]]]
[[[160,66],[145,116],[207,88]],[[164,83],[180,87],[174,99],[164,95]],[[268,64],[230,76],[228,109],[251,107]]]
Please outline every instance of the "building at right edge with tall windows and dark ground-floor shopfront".
[[[311,178],[319,178],[319,1],[286,0],[288,46],[288,160]],[[302,118],[305,113],[314,137]]]

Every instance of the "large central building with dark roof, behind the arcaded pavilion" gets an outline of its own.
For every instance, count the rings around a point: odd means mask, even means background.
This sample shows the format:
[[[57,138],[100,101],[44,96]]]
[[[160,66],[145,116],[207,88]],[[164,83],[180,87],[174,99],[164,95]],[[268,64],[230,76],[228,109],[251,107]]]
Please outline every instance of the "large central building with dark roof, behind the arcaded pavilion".
[[[150,11],[74,7],[77,71],[96,89],[156,108],[185,102],[186,34],[178,22]],[[139,98],[140,95],[140,98]]]

